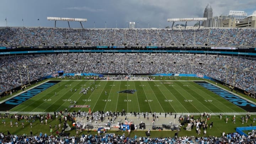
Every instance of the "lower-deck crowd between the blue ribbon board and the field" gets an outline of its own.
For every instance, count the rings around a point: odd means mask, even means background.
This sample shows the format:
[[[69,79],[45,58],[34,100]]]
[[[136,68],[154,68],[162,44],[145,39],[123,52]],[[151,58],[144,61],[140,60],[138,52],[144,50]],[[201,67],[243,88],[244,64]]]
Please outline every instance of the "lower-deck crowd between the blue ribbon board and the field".
[[[0,92],[21,86],[21,79],[25,84],[61,70],[75,74],[197,74],[251,94],[256,91],[255,60],[222,55],[80,53],[11,56],[0,61]]]

